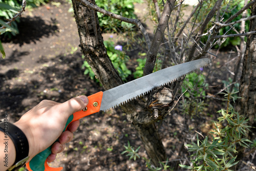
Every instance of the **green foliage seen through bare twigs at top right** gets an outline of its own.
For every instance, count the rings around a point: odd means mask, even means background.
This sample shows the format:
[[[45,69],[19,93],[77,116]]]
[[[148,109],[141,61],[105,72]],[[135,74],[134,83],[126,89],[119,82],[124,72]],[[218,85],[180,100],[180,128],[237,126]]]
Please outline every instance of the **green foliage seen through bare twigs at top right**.
[[[226,10],[226,7],[228,5],[228,2],[229,1],[223,1],[222,3],[222,6],[221,6],[221,13],[220,15],[222,16],[222,13]],[[199,13],[199,16],[198,18],[201,18],[201,20],[203,20],[205,18],[205,14],[208,13],[212,7],[214,7],[214,3],[212,3],[212,1],[204,1],[202,3],[202,11],[204,11],[203,13]],[[244,0],[243,1],[231,1],[229,3],[229,6],[225,12],[225,14],[223,15],[223,18],[229,18],[231,15],[234,15],[236,14],[239,10],[241,10],[242,8],[244,7]],[[196,14],[195,14],[196,16]],[[248,10],[247,12],[247,17],[250,16],[250,11]],[[239,15],[238,17],[234,18],[232,20],[232,22],[235,22],[239,19],[242,18],[242,15]],[[215,18],[212,18],[214,19],[213,21],[215,21]],[[198,19],[200,20],[200,19]],[[223,21],[225,22],[225,20]],[[234,29],[236,29],[238,32],[240,32],[240,25],[241,24],[236,24],[234,25]],[[209,23],[206,30],[208,30],[212,25]],[[227,27],[223,27],[219,34],[220,35],[223,35],[223,34],[226,34],[226,32],[228,32],[228,34],[237,34],[237,32],[234,30],[234,29],[230,29],[230,26],[227,26]],[[248,31],[249,29],[249,20],[247,20],[245,22],[245,31]],[[208,36],[202,36],[201,40],[203,43],[205,43],[207,41],[207,38]],[[223,47],[226,47],[228,45],[232,45],[232,46],[236,46],[236,45],[240,45],[240,42],[241,42],[241,38],[240,37],[228,37],[226,38],[226,40],[223,42],[223,44],[221,45],[216,45],[215,48],[223,48]]]

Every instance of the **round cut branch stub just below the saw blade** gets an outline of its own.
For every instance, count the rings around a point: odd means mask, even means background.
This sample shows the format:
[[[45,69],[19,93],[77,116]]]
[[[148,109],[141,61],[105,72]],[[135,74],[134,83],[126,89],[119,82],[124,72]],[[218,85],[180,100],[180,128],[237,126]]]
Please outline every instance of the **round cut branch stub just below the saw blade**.
[[[145,103],[146,108],[152,112],[154,119],[161,119],[167,114],[169,107],[174,103],[173,92],[168,88],[160,88],[150,93]]]

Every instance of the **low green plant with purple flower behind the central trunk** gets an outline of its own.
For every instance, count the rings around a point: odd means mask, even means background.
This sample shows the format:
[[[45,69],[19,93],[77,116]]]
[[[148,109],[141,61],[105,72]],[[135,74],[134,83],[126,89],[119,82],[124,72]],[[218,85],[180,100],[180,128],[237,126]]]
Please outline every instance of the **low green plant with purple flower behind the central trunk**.
[[[106,51],[112,61],[114,67],[117,69],[119,76],[123,81],[126,81],[126,78],[132,74],[132,72],[127,69],[125,63],[129,61],[129,56],[125,55],[125,52],[122,51],[122,46],[114,46],[113,41],[104,41],[104,46]],[[89,74],[91,79],[95,79],[95,74],[93,73],[91,67],[87,61],[83,62],[82,68],[86,68],[84,75]]]

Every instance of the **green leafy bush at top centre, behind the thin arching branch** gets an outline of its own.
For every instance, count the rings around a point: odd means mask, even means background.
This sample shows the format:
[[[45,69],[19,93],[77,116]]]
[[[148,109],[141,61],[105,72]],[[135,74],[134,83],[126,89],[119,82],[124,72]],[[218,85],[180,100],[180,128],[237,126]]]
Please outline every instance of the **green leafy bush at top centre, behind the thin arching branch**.
[[[96,5],[107,11],[115,14],[122,15],[127,18],[136,18],[134,14],[134,3],[142,3],[142,0],[96,0]],[[133,30],[134,25],[120,22],[120,20],[111,18],[109,16],[104,16],[102,13],[98,12],[99,25],[103,32],[128,32]]]

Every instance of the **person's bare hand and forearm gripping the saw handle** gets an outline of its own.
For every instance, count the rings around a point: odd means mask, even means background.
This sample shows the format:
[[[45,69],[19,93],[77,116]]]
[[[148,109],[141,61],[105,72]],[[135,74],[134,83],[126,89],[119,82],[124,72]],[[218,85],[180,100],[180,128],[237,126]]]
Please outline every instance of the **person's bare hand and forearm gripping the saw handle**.
[[[3,122],[0,123],[0,171],[18,168],[50,145],[52,154],[47,161],[52,162],[56,154],[64,150],[65,143],[72,140],[73,132],[79,126],[79,120],[74,121],[62,133],[68,118],[87,104],[86,96],[64,103],[43,100],[14,124],[5,127]]]

